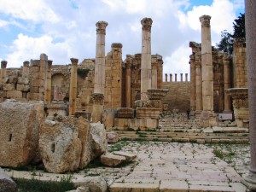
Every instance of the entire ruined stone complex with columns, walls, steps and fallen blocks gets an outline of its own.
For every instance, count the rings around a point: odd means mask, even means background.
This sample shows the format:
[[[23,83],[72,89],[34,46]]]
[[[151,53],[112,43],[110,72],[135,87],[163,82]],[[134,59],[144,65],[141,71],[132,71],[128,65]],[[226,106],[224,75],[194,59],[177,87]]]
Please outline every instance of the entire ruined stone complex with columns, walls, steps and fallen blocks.
[[[0,166],[43,162],[48,172],[75,172],[96,158],[118,166],[136,155],[108,154],[108,143],[140,137],[135,131],[148,140],[248,143],[245,40],[235,40],[232,56],[218,51],[210,20],[200,17],[201,44],[189,42],[190,79],[181,73],[179,82],[177,73],[162,80],[163,58],[151,53],[150,18],[141,20],[142,53],[125,61],[122,44],[105,47],[106,21],[96,23],[96,58],[55,65],[41,54],[20,68],[1,61]]]

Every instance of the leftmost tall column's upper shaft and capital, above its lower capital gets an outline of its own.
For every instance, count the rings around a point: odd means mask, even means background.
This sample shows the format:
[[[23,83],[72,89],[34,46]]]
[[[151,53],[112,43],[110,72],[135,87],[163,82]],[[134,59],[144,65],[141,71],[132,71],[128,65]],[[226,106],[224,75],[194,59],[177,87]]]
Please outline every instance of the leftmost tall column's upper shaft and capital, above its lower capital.
[[[96,60],[94,93],[104,94],[105,85],[105,36],[108,23],[98,21],[96,23]]]

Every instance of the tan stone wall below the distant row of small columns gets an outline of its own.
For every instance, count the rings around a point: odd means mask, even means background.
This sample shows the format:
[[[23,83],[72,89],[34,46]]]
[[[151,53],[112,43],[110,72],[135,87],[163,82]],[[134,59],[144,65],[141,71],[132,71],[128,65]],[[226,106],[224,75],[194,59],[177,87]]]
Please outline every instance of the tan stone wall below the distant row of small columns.
[[[164,82],[163,89],[169,90],[163,99],[167,111],[178,109],[185,113],[190,108],[190,82]]]

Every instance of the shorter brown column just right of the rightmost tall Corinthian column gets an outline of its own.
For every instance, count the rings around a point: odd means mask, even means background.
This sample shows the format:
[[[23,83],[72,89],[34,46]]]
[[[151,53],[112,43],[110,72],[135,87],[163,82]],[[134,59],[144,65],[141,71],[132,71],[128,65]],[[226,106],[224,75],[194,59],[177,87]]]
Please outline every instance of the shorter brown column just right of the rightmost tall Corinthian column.
[[[230,55],[224,55],[224,90],[230,89]],[[223,113],[232,113],[231,111],[231,99],[230,95],[224,92],[224,112]]]

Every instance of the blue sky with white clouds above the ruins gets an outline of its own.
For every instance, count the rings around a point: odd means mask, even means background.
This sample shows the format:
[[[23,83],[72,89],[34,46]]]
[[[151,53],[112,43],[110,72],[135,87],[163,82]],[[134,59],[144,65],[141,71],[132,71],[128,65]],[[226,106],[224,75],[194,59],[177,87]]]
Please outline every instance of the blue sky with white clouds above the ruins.
[[[0,0],[0,60],[8,67],[38,59],[53,64],[95,58],[96,22],[108,22],[106,53],[123,44],[123,59],[142,49],[140,20],[150,17],[152,54],[163,56],[164,73],[189,73],[189,41],[201,42],[201,15],[211,15],[212,45],[233,32],[244,0]]]

